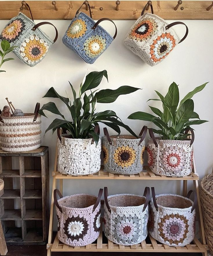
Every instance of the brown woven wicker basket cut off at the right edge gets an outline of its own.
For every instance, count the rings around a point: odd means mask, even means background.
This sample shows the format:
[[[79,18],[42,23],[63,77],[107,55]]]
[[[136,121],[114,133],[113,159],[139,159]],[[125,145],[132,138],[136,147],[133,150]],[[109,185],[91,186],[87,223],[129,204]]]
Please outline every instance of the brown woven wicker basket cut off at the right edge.
[[[200,199],[203,210],[205,237],[210,253],[213,255],[213,170],[200,183]]]

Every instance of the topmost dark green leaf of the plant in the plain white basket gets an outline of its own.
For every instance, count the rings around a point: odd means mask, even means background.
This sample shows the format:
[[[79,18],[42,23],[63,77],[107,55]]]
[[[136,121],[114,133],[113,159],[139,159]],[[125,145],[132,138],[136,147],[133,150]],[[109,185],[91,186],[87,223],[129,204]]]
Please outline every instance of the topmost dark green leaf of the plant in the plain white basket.
[[[99,84],[101,83],[101,80],[103,78],[103,75],[107,78],[107,81],[108,81],[108,76],[107,76],[106,70],[90,72],[86,76],[86,80],[81,88],[81,94],[83,94],[87,90],[91,90],[91,89],[99,86]]]

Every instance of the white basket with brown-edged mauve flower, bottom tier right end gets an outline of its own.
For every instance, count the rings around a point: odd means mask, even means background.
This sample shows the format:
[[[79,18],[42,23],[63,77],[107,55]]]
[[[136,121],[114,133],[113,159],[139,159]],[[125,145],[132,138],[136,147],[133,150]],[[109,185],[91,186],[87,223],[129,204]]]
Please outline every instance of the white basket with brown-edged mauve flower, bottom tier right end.
[[[194,202],[189,199],[194,194]],[[162,244],[185,246],[195,235],[195,208],[197,194],[190,190],[187,197],[174,194],[155,196],[152,187],[152,201],[149,205],[149,234]]]

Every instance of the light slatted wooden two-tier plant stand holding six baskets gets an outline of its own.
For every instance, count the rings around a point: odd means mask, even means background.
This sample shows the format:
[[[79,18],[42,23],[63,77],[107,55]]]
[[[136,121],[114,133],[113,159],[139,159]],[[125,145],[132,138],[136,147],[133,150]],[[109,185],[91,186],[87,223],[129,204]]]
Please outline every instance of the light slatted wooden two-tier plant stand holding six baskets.
[[[57,150],[55,157],[55,165],[54,171],[52,172],[53,176],[53,184],[52,184],[52,199],[51,199],[51,208],[50,208],[50,227],[49,227],[49,236],[48,236],[48,244],[47,244],[47,256],[51,256],[52,252],[161,252],[161,253],[202,253],[203,256],[207,256],[208,246],[206,245],[205,234],[204,234],[204,226],[203,226],[203,216],[201,211],[201,202],[199,196],[199,186],[198,180],[199,176],[196,172],[195,158],[193,156],[193,169],[190,175],[184,177],[167,177],[160,176],[154,174],[148,166],[145,166],[143,170],[139,174],[130,174],[130,175],[119,175],[119,174],[111,174],[105,172],[103,167],[101,170],[95,174],[89,174],[84,176],[71,176],[65,175],[57,172]],[[183,196],[187,194],[187,181],[191,180],[194,184],[194,190],[196,190],[198,195],[198,207],[196,209],[196,215],[199,221],[199,232],[201,242],[194,237],[194,240],[191,244],[188,244],[184,247],[172,247],[165,244],[161,244],[156,241],[151,236],[141,242],[141,244],[136,244],[132,246],[122,246],[114,244],[112,241],[108,240],[108,243],[103,243],[103,235],[102,235],[102,225],[100,230],[100,236],[97,241],[87,246],[68,246],[62,244],[58,237],[56,236],[54,241],[52,241],[52,232],[53,232],[53,219],[54,219],[54,198],[53,192],[54,189],[57,188],[57,181],[59,181],[59,190],[63,194],[63,180],[64,179],[128,179],[128,180],[179,180],[183,181]]]

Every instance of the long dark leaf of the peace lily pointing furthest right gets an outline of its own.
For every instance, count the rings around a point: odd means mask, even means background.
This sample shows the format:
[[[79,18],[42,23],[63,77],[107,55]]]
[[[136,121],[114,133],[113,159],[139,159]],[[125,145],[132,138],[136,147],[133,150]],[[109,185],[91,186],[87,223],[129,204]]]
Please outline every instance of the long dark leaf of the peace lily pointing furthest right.
[[[139,89],[140,88],[125,85],[115,90],[101,90],[94,95],[94,99],[92,99],[92,102],[95,102],[97,100],[98,103],[111,103],[114,102],[118,98],[118,96],[129,94]]]

